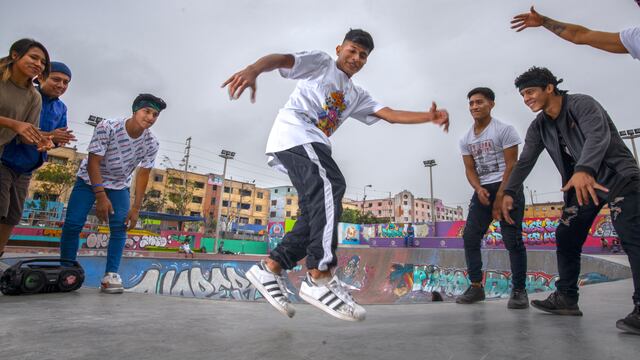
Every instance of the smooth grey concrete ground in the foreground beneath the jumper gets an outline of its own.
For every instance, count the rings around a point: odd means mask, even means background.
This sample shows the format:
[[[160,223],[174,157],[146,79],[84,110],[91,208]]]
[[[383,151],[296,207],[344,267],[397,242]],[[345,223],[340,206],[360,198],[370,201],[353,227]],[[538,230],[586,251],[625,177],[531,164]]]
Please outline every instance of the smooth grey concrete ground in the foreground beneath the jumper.
[[[640,336],[615,328],[631,289],[631,280],[584,287],[584,317],[499,300],[368,306],[362,323],[309,305],[288,319],[265,302],[87,288],[0,295],[0,359],[637,359]]]

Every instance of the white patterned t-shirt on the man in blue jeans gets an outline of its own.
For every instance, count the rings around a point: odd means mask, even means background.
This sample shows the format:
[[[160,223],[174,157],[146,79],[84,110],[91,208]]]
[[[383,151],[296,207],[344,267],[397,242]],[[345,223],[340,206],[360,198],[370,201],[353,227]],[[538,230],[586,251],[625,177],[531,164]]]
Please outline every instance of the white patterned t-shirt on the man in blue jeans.
[[[87,152],[103,156],[100,162],[102,184],[107,189],[121,190],[131,186],[131,175],[136,167],[152,168],[160,143],[146,129],[142,135],[132,139],[127,133],[127,119],[107,119],[96,126]],[[91,184],[87,171],[88,159],[82,160],[78,177]]]

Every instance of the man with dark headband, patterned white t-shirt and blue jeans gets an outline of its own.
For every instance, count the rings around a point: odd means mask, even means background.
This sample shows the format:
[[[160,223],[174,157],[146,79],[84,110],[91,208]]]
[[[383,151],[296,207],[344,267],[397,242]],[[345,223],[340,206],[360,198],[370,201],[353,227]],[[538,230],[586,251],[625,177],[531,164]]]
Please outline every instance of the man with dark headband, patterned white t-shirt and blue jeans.
[[[140,94],[133,101],[130,118],[101,121],[87,149],[89,158],[82,161],[78,179],[71,192],[67,216],[60,238],[60,258],[75,260],[79,236],[87,214],[96,203],[96,216],[109,223],[107,265],[100,289],[102,292],[123,292],[118,267],[126,241],[126,231],[133,229],[138,211],[155,163],[159,143],[149,128],[166,108],[165,102],[151,94]],[[134,170],[135,199],[129,205],[129,187]]]

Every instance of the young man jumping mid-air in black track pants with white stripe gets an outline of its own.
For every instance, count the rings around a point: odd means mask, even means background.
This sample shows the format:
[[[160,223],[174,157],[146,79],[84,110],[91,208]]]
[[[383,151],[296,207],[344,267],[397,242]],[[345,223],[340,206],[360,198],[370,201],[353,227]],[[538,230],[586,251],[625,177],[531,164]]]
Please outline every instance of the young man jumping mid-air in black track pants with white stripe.
[[[289,317],[295,310],[287,297],[284,270],[306,257],[309,272],[300,286],[300,297],[343,320],[364,320],[358,305],[342,282],[332,275],[337,265],[337,224],[342,212],[345,179],[331,157],[329,136],[349,117],[371,125],[379,119],[390,123],[432,122],[449,126],[449,115],[433,103],[426,112],[399,111],[376,102],[352,77],[367,63],[373,39],[363,30],[350,30],[336,47],[334,60],[322,51],[271,54],[231,76],[232,99],[250,88],[255,101],[256,78],[278,69],[287,79],[298,80],[289,101],[271,129],[266,153],[269,164],[288,173],[299,194],[300,216],[292,231],[247,279],[276,309]]]

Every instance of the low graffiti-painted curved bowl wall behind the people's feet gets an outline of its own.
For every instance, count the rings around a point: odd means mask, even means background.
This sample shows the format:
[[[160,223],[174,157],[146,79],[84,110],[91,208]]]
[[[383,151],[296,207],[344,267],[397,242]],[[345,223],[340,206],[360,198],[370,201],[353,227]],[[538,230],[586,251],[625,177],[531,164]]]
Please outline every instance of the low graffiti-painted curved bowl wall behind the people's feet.
[[[245,272],[260,260],[255,256],[208,255],[185,259],[152,257],[137,252],[122,259],[120,275],[126,291],[180,297],[258,301],[261,295]],[[527,290],[530,294],[555,290],[554,251],[528,252]],[[505,250],[484,250],[483,282],[487,299],[507,298],[511,272]],[[369,249],[338,250],[337,274],[362,304],[429,303],[439,297],[453,301],[469,286],[463,250]],[[6,265],[16,258],[3,259]],[[80,256],[85,287],[97,288],[104,273],[104,256]],[[297,289],[305,276],[298,266],[288,272],[293,302],[301,302]],[[583,255],[580,286],[631,277],[627,266]],[[434,293],[439,296],[434,299]]]

